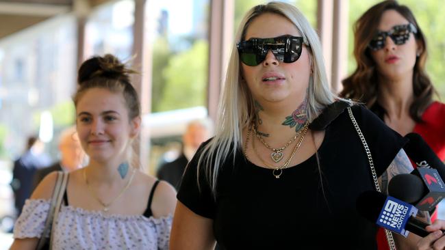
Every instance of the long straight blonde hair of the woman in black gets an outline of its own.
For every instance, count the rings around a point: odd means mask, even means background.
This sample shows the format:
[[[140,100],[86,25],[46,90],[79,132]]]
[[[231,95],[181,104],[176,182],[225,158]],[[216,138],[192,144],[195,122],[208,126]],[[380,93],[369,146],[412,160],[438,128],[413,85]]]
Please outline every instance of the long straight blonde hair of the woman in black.
[[[337,98],[329,89],[320,40],[305,16],[293,5],[282,2],[270,2],[251,8],[242,19],[232,46],[223,95],[218,107],[220,116],[216,122],[215,137],[202,148],[198,161],[196,173],[198,180],[204,171],[214,195],[220,166],[227,160],[229,154],[233,154],[233,161],[235,161],[236,151],[242,146],[242,128],[248,126],[255,118],[255,107],[249,88],[240,81],[240,58],[236,43],[244,40],[246,30],[252,20],[265,13],[279,14],[288,18],[303,36],[305,44],[309,45],[307,50],[312,64],[306,111],[309,122]]]

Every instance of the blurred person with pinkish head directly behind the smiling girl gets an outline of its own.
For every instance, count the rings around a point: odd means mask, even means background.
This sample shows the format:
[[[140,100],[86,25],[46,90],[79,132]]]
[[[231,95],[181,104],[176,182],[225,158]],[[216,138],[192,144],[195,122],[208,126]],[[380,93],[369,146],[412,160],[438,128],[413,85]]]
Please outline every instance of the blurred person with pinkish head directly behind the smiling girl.
[[[58,149],[60,152],[60,161],[36,171],[33,190],[40,181],[52,171],[71,172],[82,167],[85,152],[81,148],[75,126],[62,130],[59,137]]]

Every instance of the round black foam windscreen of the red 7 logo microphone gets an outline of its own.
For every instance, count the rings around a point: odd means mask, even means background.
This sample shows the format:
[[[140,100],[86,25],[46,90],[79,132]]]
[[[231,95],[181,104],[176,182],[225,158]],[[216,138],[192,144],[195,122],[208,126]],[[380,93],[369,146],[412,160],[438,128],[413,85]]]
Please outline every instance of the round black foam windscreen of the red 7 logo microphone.
[[[394,176],[388,184],[388,195],[403,202],[415,204],[425,195],[422,179],[414,174],[402,173]]]

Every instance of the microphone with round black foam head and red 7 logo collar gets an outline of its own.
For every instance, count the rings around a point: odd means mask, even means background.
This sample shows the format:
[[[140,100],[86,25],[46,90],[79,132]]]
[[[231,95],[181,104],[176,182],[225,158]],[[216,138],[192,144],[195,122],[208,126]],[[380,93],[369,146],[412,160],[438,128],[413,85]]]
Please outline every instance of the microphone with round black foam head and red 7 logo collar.
[[[431,211],[445,196],[445,185],[435,169],[419,167],[394,176],[388,183],[388,194],[412,204],[422,211]]]

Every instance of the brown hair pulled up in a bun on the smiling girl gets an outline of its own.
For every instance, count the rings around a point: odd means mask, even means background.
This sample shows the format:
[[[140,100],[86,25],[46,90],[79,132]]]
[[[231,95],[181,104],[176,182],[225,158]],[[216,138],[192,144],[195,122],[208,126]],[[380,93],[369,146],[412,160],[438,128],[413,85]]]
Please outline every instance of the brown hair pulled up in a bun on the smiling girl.
[[[140,115],[138,93],[130,83],[129,74],[135,71],[126,68],[114,55],[92,57],[80,66],[77,83],[79,87],[73,100],[75,106],[81,96],[94,87],[108,89],[113,93],[122,93],[127,105],[129,120]]]

